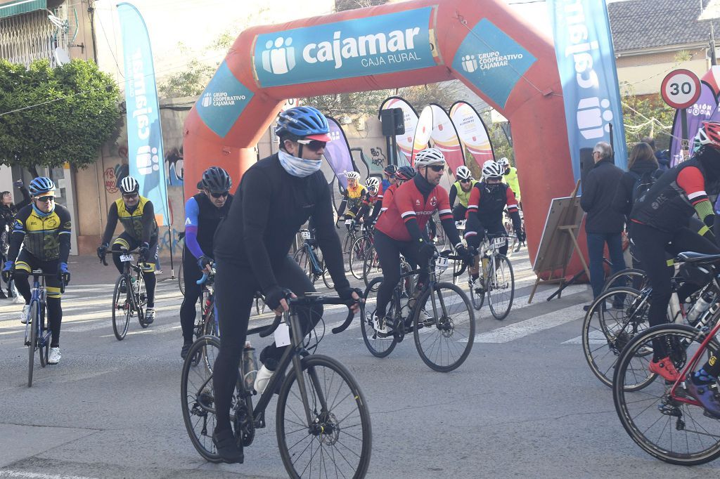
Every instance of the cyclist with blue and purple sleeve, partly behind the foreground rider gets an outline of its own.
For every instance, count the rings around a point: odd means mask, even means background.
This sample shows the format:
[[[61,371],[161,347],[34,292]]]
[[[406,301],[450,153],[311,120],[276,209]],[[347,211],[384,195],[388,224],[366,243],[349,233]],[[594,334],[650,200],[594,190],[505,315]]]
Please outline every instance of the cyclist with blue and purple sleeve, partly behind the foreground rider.
[[[233,181],[228,172],[217,166],[211,166],[202,173],[201,193],[185,203],[185,247],[183,250],[183,270],[185,298],[180,306],[180,324],[182,326],[183,345],[180,356],[185,359],[193,341],[193,328],[197,314],[196,304],[202,292],[197,284],[203,272],[212,271],[212,237],[217,224],[228,216],[233,195],[230,187]]]

